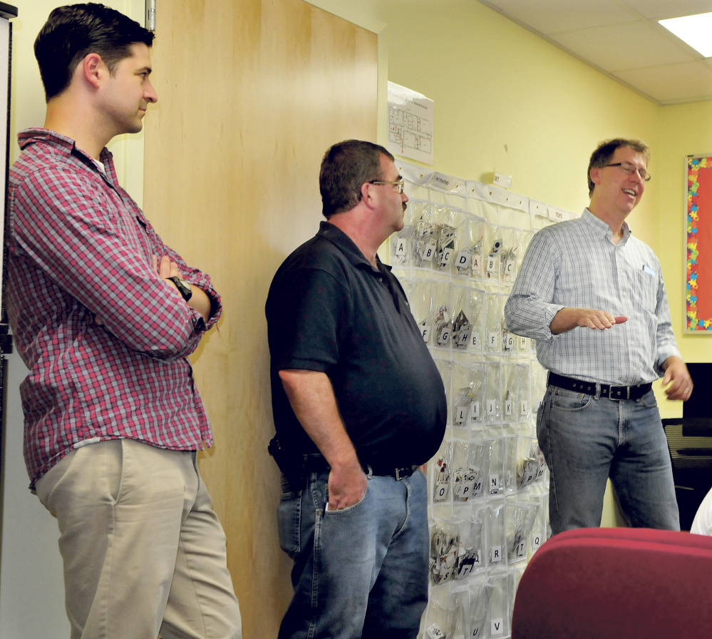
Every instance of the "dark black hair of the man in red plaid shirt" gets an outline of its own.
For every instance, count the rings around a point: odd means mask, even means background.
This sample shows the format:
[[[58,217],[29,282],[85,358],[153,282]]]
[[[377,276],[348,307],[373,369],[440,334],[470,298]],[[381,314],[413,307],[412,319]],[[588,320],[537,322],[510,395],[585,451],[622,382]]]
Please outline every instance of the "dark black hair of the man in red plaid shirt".
[[[113,75],[132,44],[153,44],[153,34],[138,22],[103,4],[69,4],[49,14],[35,39],[46,101],[71,83],[78,65],[89,53],[98,53]]]

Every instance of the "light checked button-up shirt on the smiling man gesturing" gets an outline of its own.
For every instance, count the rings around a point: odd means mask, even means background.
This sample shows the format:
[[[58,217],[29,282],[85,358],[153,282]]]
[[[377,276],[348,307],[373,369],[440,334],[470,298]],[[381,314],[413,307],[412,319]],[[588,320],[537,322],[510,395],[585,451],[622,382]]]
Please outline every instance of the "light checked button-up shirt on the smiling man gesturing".
[[[623,225],[612,231],[588,209],[581,218],[537,232],[505,305],[507,327],[536,340],[546,369],[616,386],[653,382],[661,364],[680,357],[660,262],[651,248]],[[626,315],[607,329],[577,327],[554,335],[549,325],[564,307]]]

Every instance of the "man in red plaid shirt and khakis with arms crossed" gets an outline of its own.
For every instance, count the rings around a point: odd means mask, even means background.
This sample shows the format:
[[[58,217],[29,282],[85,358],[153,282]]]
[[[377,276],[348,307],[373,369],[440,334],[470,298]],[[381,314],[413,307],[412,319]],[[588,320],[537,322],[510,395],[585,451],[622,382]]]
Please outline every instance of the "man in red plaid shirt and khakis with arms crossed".
[[[73,638],[242,636],[225,533],[197,471],[212,433],[187,356],[220,317],[105,145],[157,100],[153,34],[100,4],[35,41],[44,128],[10,172],[7,309],[30,488],[58,520]]]

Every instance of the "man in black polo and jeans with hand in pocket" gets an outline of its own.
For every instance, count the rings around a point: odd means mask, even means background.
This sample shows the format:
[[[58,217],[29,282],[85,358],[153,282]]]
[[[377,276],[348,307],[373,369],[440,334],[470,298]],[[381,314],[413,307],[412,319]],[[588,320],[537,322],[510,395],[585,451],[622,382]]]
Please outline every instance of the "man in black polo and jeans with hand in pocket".
[[[347,140],[324,155],[319,232],[267,297],[271,451],[294,598],[279,638],[415,638],[428,599],[425,476],[445,389],[401,285],[376,251],[403,228],[393,156]]]

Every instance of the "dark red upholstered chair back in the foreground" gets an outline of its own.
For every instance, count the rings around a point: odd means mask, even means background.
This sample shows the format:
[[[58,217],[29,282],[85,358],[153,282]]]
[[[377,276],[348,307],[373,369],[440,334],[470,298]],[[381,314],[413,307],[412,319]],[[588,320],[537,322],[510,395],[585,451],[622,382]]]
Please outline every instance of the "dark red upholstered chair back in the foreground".
[[[582,528],[532,557],[512,639],[712,638],[712,537]]]

